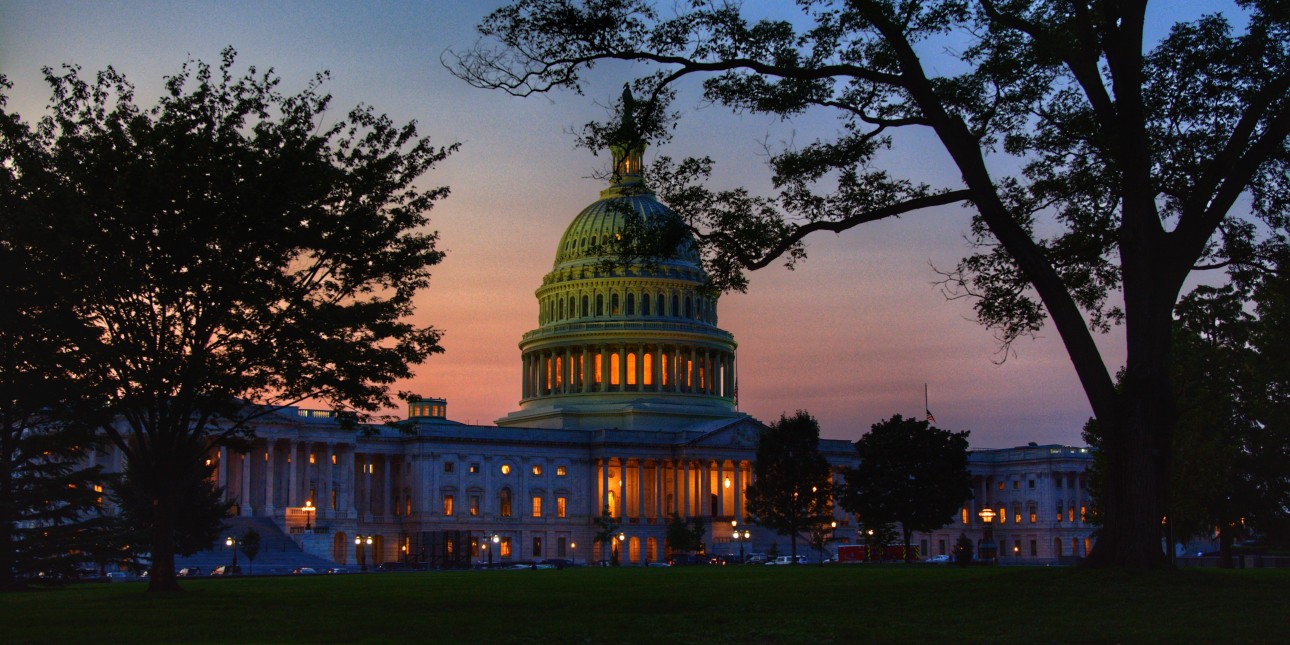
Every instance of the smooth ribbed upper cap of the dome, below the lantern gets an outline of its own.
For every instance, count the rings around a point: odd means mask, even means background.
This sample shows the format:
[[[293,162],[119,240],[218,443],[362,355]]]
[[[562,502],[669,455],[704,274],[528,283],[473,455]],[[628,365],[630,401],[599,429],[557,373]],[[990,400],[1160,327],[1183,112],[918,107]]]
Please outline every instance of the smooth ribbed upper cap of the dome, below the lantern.
[[[658,231],[677,217],[655,200],[651,192],[626,196],[613,196],[618,192],[613,190],[605,192],[611,196],[584,208],[569,223],[556,249],[555,268],[569,263],[596,262],[602,255],[605,244],[615,236],[624,235],[628,230]],[[675,257],[666,259],[698,267],[699,254],[693,239],[681,243]]]

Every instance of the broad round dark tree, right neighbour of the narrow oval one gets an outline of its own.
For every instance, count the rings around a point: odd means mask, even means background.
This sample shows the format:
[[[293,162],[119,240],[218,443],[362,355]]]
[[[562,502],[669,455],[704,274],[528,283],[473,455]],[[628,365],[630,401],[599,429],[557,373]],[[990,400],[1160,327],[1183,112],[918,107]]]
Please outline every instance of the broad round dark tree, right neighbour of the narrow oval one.
[[[860,464],[846,470],[840,504],[864,524],[900,522],[904,559],[913,531],[937,530],[971,499],[968,432],[949,432],[899,414],[855,442]]]

